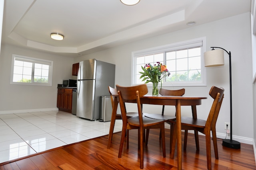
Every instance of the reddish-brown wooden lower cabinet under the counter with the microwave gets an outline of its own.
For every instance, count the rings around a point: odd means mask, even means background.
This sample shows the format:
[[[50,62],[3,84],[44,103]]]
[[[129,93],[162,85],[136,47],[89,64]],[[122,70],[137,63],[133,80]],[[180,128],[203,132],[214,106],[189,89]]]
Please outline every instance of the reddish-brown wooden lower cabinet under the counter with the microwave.
[[[72,112],[72,88],[58,89],[57,94],[57,107],[59,110]]]

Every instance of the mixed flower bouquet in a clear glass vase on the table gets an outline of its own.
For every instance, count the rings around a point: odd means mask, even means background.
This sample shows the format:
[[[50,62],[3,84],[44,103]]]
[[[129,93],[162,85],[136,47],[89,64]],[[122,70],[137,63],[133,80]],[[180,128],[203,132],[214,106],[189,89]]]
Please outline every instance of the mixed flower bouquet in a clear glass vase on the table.
[[[166,65],[156,62],[154,66],[152,66],[151,64],[146,64],[144,67],[141,66],[141,68],[144,72],[139,72],[140,74],[142,74],[140,78],[143,78],[142,81],[146,80],[145,83],[152,82],[152,95],[158,96],[158,82],[161,82],[162,88],[162,79],[170,75],[170,72],[168,72]]]

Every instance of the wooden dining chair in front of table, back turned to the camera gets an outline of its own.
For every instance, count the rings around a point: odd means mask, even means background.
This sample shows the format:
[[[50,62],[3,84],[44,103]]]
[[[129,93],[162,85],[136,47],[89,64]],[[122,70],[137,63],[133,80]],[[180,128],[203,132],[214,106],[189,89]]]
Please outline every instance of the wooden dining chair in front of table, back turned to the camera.
[[[157,120],[157,119],[150,119],[148,117],[142,116],[142,108],[140,103],[140,97],[144,96],[148,93],[148,88],[146,84],[140,84],[138,86],[130,86],[130,87],[122,87],[116,85],[116,89],[118,90],[118,97],[119,97],[119,104],[122,114],[122,135],[119,147],[118,158],[122,156],[122,149],[124,145],[125,133],[127,129],[139,129],[140,138],[140,168],[143,169],[143,162],[144,162],[144,129],[161,129],[162,132],[162,152],[163,157],[166,157],[165,151],[165,134],[164,134],[164,122],[165,120]],[[126,109],[124,103],[132,102],[137,103],[138,107],[138,116],[128,118],[126,117]],[[128,136],[126,137],[126,139]]]

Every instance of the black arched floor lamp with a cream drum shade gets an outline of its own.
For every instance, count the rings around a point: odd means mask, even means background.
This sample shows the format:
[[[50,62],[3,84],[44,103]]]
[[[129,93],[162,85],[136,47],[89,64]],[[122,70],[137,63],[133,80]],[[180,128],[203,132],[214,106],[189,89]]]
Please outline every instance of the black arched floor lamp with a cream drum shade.
[[[224,51],[220,47],[211,47],[211,51],[206,51],[204,53],[204,66],[205,67],[214,67],[224,65]],[[214,48],[218,48],[215,50]],[[228,53],[228,51],[226,51]],[[238,141],[232,140],[232,76],[231,76],[231,52],[229,55],[229,84],[230,84],[230,139],[223,139],[222,146],[240,149],[240,143]]]

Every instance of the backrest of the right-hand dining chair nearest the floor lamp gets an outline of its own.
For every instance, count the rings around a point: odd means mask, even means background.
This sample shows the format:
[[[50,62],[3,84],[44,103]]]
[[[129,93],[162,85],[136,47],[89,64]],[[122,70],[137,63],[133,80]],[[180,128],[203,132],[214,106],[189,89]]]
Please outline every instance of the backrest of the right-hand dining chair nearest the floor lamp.
[[[212,107],[210,109],[210,113],[206,120],[205,128],[207,130],[211,130],[212,125],[215,126],[218,114],[220,111],[220,106],[222,104],[222,100],[224,98],[224,89],[212,86],[209,95],[214,99],[212,103]]]

